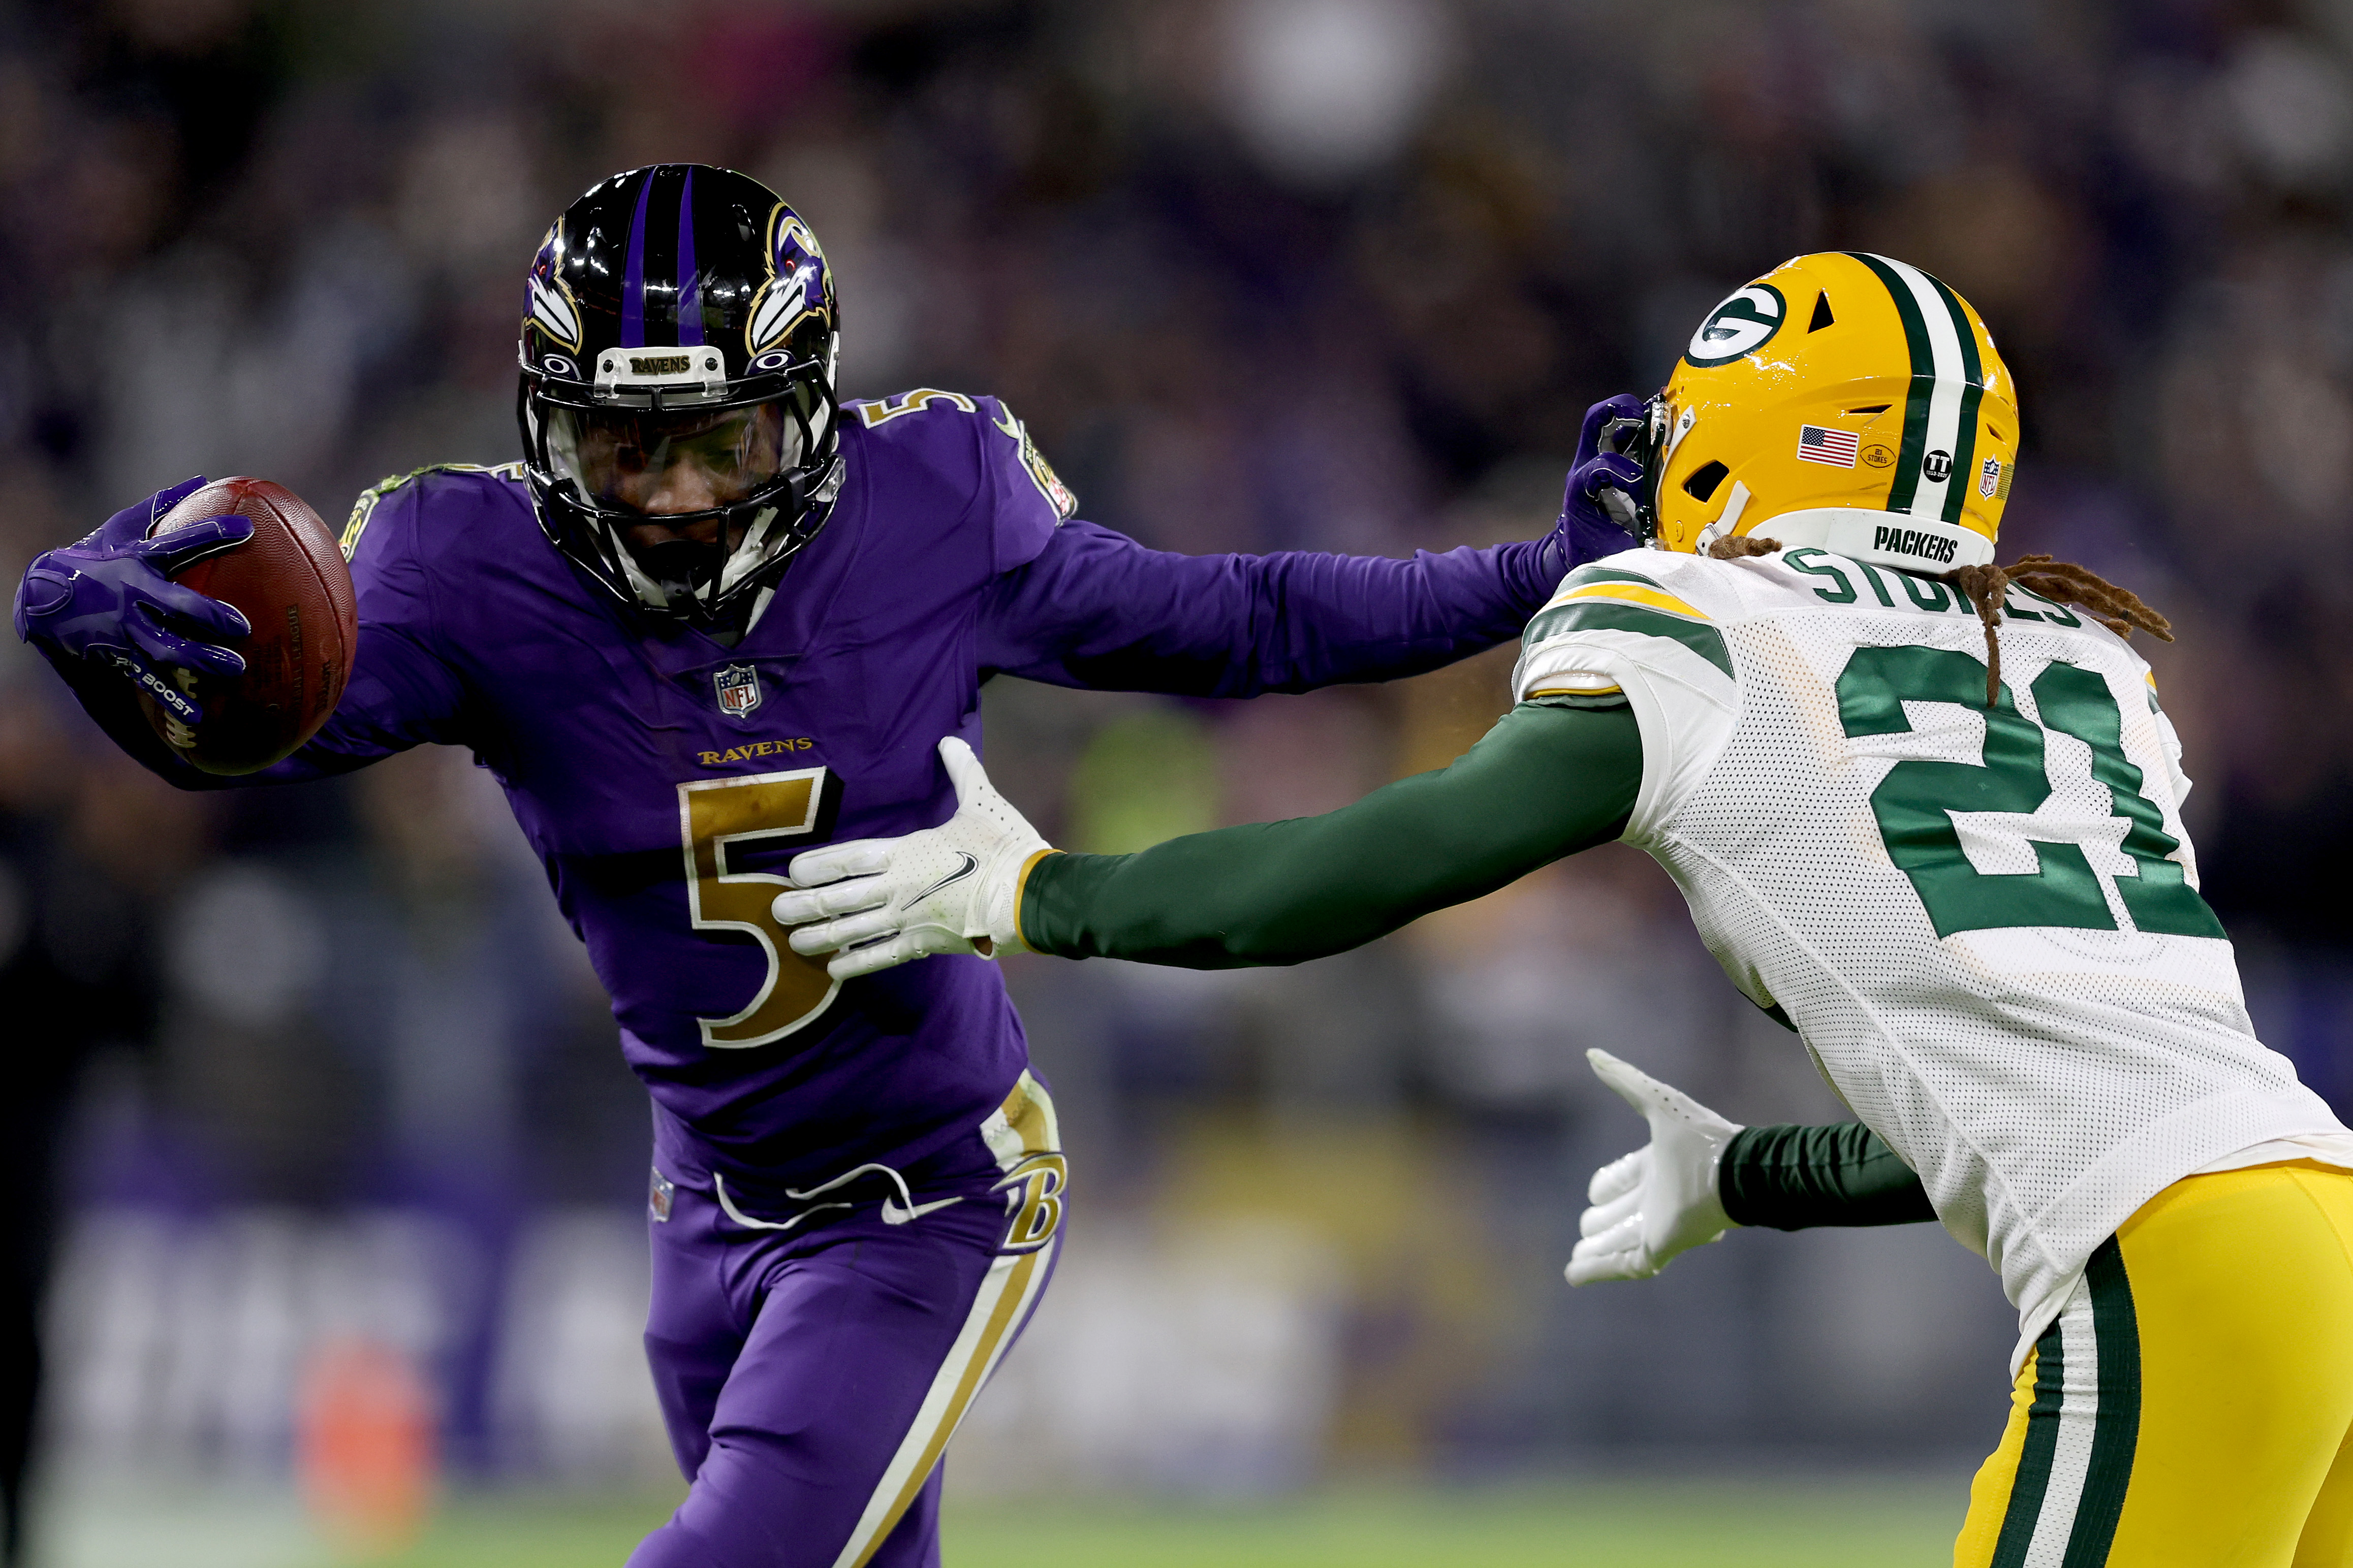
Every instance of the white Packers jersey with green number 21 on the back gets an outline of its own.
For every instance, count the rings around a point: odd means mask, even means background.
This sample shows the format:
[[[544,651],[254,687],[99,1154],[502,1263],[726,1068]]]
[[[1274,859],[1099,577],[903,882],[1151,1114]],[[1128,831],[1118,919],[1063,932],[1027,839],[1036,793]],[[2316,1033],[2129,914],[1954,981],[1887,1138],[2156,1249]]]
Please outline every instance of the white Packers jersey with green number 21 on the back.
[[[2346,1128],[2247,1023],[2148,665],[2017,588],[2000,644],[1988,710],[1984,628],[1941,583],[1631,550],[1562,581],[1513,693],[1633,705],[1626,839],[2031,1342],[2158,1190]]]

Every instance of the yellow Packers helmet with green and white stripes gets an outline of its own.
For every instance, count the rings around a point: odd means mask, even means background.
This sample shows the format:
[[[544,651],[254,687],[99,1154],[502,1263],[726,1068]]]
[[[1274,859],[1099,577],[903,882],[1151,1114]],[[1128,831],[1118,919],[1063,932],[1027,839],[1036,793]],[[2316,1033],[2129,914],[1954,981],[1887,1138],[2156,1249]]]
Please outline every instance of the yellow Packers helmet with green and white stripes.
[[[1821,252],[1715,306],[1645,418],[1605,442],[1642,463],[1657,548],[1769,534],[1944,571],[1993,559],[2019,404],[1969,301],[1915,266]]]

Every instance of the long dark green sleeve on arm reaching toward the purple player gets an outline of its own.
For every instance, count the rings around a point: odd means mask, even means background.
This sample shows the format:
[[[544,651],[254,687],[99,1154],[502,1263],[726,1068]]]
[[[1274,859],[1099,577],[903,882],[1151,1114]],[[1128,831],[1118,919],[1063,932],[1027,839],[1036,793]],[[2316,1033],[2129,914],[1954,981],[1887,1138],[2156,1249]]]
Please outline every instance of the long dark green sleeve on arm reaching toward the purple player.
[[[1320,959],[1619,837],[1640,788],[1628,708],[1522,703],[1452,766],[1325,816],[1047,856],[1021,940],[1181,969]]]

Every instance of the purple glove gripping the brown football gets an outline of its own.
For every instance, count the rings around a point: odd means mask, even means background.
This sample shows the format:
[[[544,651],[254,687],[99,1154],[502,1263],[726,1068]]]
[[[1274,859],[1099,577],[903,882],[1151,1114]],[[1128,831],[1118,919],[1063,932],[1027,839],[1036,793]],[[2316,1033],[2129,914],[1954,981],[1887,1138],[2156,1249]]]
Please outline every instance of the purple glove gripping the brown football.
[[[16,635],[24,642],[49,661],[96,658],[115,665],[181,724],[198,724],[205,710],[160,675],[158,665],[242,675],[245,658],[169,628],[184,625],[221,639],[254,632],[233,604],[207,599],[169,576],[242,545],[254,536],[249,517],[209,517],[165,538],[148,538],[165,512],[202,487],[205,477],[198,475],[122,508],[89,538],[33,557],[16,588]]]

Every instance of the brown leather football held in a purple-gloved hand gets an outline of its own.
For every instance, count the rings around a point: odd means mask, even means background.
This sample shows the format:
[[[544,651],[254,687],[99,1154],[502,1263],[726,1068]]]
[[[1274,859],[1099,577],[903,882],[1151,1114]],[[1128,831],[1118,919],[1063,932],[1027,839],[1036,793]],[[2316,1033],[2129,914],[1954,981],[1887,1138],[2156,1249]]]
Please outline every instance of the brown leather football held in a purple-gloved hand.
[[[139,693],[155,733],[207,773],[254,773],[289,757],[344,701],[360,646],[358,599],[334,534],[301,496],[271,480],[214,480],[148,529],[169,534],[205,517],[240,512],[254,536],[209,555],[174,581],[245,611],[254,635],[231,642],[245,675],[167,670],[205,708],[188,729]]]

